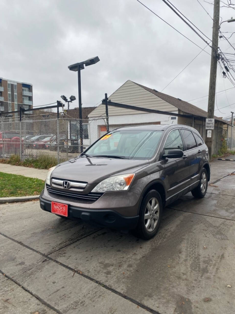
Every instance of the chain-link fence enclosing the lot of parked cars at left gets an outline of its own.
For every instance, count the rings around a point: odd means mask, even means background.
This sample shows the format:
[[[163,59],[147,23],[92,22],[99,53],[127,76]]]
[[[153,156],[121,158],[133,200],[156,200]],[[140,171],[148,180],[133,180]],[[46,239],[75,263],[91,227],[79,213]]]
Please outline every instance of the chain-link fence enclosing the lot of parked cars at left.
[[[60,113],[22,115],[0,118],[0,158],[8,159],[12,154],[20,160],[48,156],[58,163],[78,156],[106,133],[106,117],[80,120]],[[20,140],[21,139],[21,140]]]

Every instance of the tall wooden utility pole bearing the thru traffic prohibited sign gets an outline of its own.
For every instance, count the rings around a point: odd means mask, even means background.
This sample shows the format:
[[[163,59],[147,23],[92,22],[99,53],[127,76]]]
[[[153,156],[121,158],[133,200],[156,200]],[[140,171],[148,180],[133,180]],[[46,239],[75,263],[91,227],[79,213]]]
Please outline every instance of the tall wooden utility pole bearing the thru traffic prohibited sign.
[[[216,73],[217,73],[217,52],[218,52],[218,38],[219,38],[219,15],[220,15],[220,0],[214,0],[214,15],[213,15],[213,30],[212,30],[212,52],[211,52],[211,72],[209,84],[209,99],[207,118],[214,118],[215,111],[215,94],[216,94]],[[211,138],[207,137],[206,132],[206,145],[209,150],[209,158],[212,157],[212,142],[213,130]]]

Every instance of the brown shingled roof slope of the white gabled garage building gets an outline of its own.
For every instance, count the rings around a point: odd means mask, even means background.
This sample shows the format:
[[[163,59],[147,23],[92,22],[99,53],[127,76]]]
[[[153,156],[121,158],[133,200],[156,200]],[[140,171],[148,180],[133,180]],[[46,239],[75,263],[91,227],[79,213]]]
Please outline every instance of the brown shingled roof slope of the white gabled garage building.
[[[190,104],[187,101],[180,100],[180,99],[172,97],[170,95],[163,94],[161,92],[158,92],[158,91],[151,89],[149,87],[140,85],[138,83],[135,83],[135,82],[133,82],[133,83],[144,88],[145,90],[147,90],[148,92],[152,93],[153,95],[161,98],[162,100],[165,100],[169,104],[175,106],[176,108],[180,109],[181,111],[183,111],[185,113],[189,113],[189,114],[194,115],[194,116],[202,116],[202,117],[207,118],[207,112],[205,110],[202,110],[201,108],[198,108],[198,107]],[[218,118],[217,116],[214,116],[214,118],[218,121],[221,121],[223,123],[228,124],[228,122],[223,120],[222,118]]]

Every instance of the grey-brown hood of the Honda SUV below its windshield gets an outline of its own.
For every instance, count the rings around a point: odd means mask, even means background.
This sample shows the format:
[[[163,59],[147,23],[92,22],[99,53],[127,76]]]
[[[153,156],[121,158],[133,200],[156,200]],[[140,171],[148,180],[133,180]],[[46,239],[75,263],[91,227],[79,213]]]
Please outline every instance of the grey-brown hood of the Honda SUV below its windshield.
[[[134,173],[145,165],[149,160],[79,157],[58,165],[51,177],[95,184],[109,176]]]

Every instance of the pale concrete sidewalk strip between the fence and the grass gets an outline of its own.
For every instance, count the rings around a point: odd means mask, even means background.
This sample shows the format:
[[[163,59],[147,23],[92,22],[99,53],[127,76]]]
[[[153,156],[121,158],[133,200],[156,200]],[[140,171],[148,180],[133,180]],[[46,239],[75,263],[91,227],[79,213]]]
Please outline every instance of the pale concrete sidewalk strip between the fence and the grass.
[[[30,178],[38,178],[41,180],[45,180],[48,170],[22,167],[22,166],[13,166],[13,165],[8,165],[8,164],[0,164],[0,172],[10,173],[14,175],[28,176]]]

